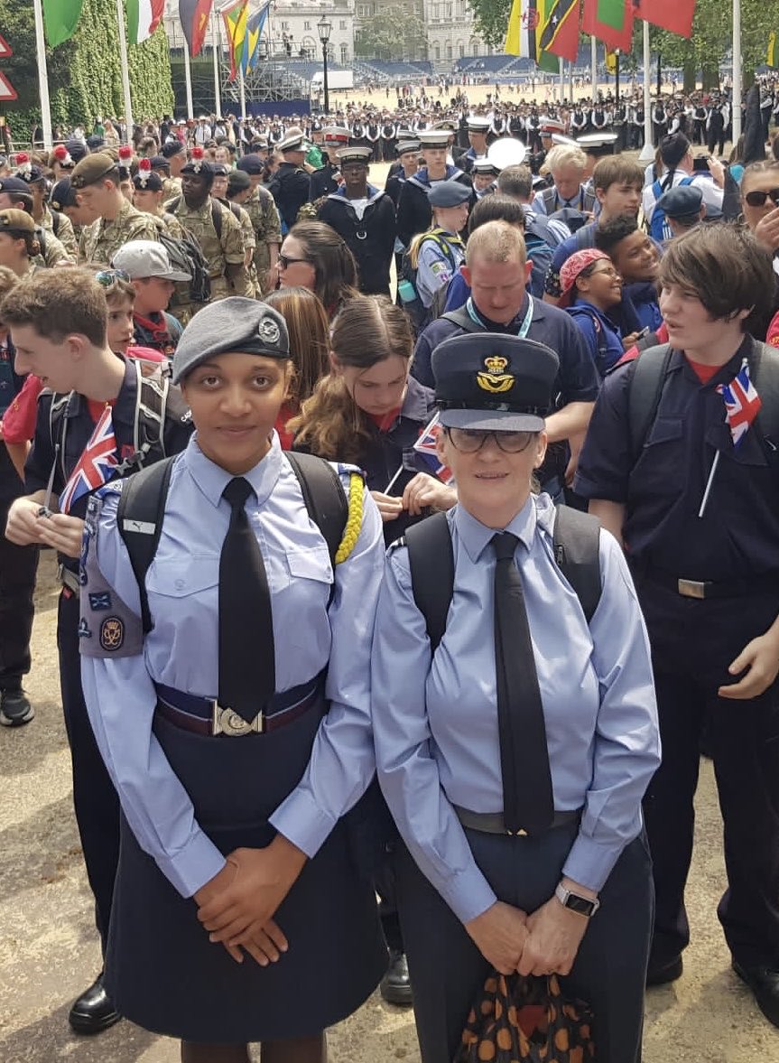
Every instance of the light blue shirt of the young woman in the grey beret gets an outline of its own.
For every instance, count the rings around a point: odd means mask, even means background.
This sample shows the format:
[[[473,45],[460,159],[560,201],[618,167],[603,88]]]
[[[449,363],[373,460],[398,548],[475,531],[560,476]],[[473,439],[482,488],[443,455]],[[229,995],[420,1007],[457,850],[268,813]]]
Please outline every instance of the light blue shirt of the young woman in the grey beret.
[[[370,653],[384,567],[382,520],[366,490],[357,544],[336,567],[328,607],[334,576],[327,546],[275,433],[271,451],[245,477],[256,494],[245,508],[272,598],[276,691],[328,667],[331,706],[308,767],[270,817],[312,857],[374,773]],[[204,456],[194,436],[173,466],[159,547],[147,576],[153,630],[138,640],[140,652],[129,656],[84,656],[99,652],[97,632],[82,639],[84,696],[122,810],[141,848],[185,897],[211,879],[224,858],[196,822],[189,796],[152,732],[154,684],[206,697],[218,692],[219,556],[230,523],[221,495],[231,478]],[[87,572],[97,564],[126,615],[138,618],[138,588],[116,527],[119,493],[114,485],[102,493]],[[83,592],[89,593],[88,585]]]

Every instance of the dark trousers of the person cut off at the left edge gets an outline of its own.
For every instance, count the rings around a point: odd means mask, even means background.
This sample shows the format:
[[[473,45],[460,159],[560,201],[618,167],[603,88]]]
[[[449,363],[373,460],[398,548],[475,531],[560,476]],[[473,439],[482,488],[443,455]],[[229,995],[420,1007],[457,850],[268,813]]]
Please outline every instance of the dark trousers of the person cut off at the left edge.
[[[5,450],[3,443],[0,448]],[[0,690],[17,690],[30,671],[38,547],[9,542],[7,516],[7,506],[0,503]]]

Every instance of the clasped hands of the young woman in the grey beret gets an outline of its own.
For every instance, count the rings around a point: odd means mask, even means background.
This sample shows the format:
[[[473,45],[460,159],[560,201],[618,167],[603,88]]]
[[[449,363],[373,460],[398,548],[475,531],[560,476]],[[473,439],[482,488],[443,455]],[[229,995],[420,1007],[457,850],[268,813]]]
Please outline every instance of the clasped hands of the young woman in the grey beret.
[[[277,834],[267,848],[234,849],[226,860],[194,894],[198,918],[236,963],[243,962],[245,949],[266,967],[289,948],[273,916],[303,870],[305,854]]]

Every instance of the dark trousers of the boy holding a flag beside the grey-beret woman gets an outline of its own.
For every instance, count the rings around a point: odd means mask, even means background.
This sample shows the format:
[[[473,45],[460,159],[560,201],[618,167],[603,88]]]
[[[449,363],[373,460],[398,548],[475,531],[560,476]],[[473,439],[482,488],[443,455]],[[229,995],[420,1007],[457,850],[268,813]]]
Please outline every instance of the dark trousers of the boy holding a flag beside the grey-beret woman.
[[[70,596],[66,596],[70,595]],[[73,808],[103,954],[111,922],[114,879],[119,861],[119,798],[95,741],[79,658],[79,598],[63,591],[57,615],[60,687],[73,766]]]

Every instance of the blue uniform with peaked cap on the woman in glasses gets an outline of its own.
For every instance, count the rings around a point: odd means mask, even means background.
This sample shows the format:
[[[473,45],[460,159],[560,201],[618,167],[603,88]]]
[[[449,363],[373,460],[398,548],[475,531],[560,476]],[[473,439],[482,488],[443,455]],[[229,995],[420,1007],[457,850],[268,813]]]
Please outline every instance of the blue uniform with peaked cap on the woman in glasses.
[[[513,336],[459,336],[437,349],[434,371],[444,429],[485,432],[482,445],[494,448],[490,433],[543,428],[539,411],[551,404],[557,358]],[[504,529],[486,526],[462,502],[446,514],[454,593],[436,649],[403,543],[388,556],[376,613],[377,774],[404,843],[395,859],[399,910],[422,1061],[454,1058],[491,969],[464,925],[498,899],[528,913],[557,904],[556,895],[576,905],[573,889],[557,892],[568,876],[598,893],[600,907],[578,909],[592,918],[563,992],[593,1008],[598,1063],[638,1063],[651,926],[641,798],[659,762],[646,632],[610,535],[600,532],[596,543],[603,589],[588,625],[555,561],[549,499],[529,494],[518,505],[505,530],[515,537],[510,557],[531,634],[522,648],[518,636],[516,652],[532,655],[528,668],[535,663],[538,674],[544,727],[536,746],[552,780],[545,824],[524,820],[519,831],[507,829],[513,812],[501,766],[509,747],[499,722],[491,547]],[[518,710],[509,711],[522,726]]]

